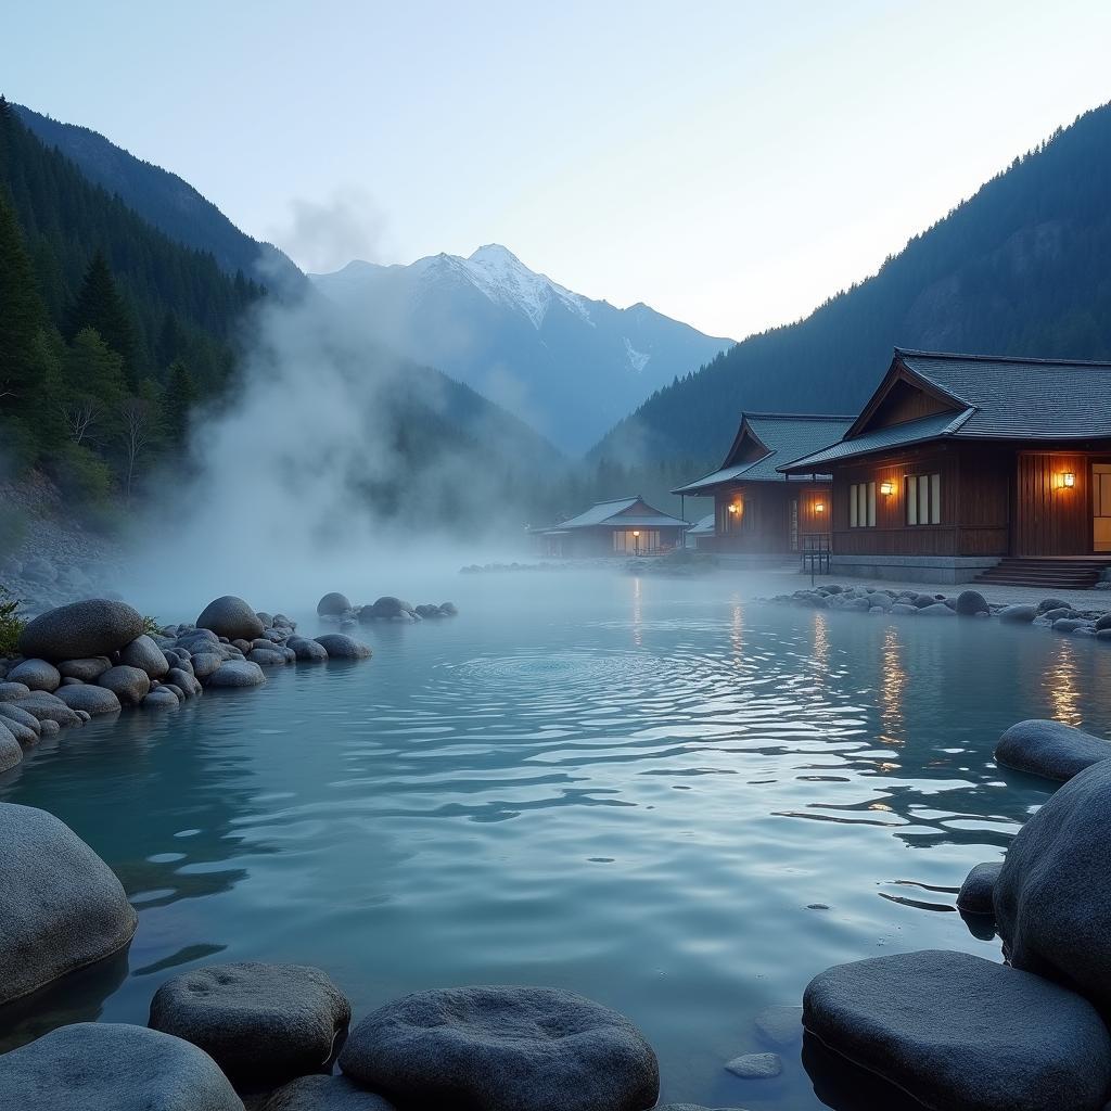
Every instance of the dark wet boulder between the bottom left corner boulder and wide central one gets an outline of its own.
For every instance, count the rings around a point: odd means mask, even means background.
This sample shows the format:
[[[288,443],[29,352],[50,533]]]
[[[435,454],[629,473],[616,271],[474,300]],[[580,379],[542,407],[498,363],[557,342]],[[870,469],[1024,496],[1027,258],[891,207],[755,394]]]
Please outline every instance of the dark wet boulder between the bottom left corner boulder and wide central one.
[[[199,1045],[241,1085],[319,1071],[350,1021],[327,973],[301,964],[211,964],[167,981],[150,1004],[154,1030]]]

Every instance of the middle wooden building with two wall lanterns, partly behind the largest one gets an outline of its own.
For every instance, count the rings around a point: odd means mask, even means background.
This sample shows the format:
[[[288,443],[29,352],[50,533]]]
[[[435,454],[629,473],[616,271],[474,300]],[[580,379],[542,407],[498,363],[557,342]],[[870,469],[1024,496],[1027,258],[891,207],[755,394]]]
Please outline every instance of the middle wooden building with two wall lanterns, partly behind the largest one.
[[[829,474],[784,476],[782,463],[839,440],[851,417],[744,413],[718,470],[672,490],[713,498],[713,531],[698,538],[710,551],[787,556],[808,538],[829,533]]]

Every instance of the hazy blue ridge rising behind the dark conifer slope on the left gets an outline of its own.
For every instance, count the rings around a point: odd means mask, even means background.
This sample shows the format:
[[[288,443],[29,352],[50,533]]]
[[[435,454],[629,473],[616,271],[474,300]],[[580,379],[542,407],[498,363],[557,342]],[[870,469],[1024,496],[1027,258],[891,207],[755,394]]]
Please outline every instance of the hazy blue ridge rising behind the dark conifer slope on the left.
[[[128,208],[170,239],[207,251],[227,273],[248,278],[280,293],[303,288],[304,276],[271,243],[237,228],[188,181],[144,162],[97,131],[62,123],[12,104],[23,124],[47,146],[57,147],[94,184],[119,196]]]

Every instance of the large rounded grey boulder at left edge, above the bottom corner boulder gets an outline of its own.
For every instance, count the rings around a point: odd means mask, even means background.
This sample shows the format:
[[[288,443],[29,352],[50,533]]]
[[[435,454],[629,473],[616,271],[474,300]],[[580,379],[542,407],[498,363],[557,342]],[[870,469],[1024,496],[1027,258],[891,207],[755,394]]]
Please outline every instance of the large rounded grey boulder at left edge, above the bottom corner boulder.
[[[0,1004],[131,940],[138,920],[120,881],[53,814],[0,803]]]

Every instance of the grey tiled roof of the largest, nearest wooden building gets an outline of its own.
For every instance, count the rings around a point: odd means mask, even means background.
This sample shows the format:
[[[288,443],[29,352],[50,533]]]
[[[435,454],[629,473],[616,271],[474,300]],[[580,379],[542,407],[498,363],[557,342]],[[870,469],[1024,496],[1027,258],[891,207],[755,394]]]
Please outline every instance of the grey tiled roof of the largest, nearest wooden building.
[[[942,411],[871,427],[898,382],[928,394]],[[891,368],[844,438],[782,464],[787,473],[927,440],[1062,441],[1111,439],[1111,363],[894,349]]]

